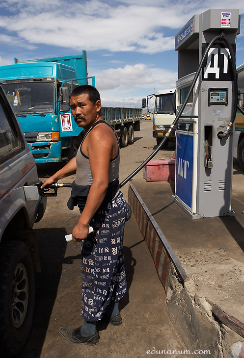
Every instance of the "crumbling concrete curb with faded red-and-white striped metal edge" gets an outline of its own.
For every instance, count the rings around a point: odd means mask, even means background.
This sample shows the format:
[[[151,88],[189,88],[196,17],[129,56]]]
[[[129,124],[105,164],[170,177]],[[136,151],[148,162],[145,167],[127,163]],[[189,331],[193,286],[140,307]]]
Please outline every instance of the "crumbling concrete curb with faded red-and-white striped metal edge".
[[[129,185],[128,203],[165,289],[167,314],[186,346],[191,352],[207,352],[198,357],[209,357],[211,352],[214,358],[243,358],[243,323],[197,295],[195,282],[185,273],[133,184]]]

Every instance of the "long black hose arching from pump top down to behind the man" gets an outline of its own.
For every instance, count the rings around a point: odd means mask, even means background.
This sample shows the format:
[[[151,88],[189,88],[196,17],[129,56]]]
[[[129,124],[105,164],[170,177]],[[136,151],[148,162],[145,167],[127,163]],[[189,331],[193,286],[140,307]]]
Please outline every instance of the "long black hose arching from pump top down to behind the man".
[[[155,149],[155,151],[154,151],[153,153],[151,153],[151,154],[149,155],[149,157],[147,157],[147,158],[144,160],[144,162],[141,163],[141,164],[138,166],[138,168],[136,168],[136,170],[134,170],[134,172],[132,172],[126,179],[124,179],[124,180],[119,184],[119,187],[120,187],[120,188],[122,188],[122,186],[124,186],[129,180],[131,180],[133,177],[135,177],[135,175],[136,175],[141,169],[143,169],[143,168],[146,166],[146,164],[147,164],[147,163],[160,151],[160,149],[163,147],[163,144],[165,143],[165,141],[166,141],[166,140],[168,139],[168,137],[170,136],[170,133],[172,132],[172,130],[175,128],[176,123],[178,122],[180,116],[182,115],[182,112],[183,112],[185,106],[187,105],[187,102],[188,102],[188,100],[189,100],[189,98],[190,98],[190,94],[191,94],[191,92],[192,92],[192,90],[193,90],[193,88],[194,88],[194,85],[195,85],[195,83],[196,83],[196,80],[197,80],[197,78],[198,78],[198,76],[199,76],[199,74],[200,74],[200,72],[201,72],[202,67],[203,67],[203,63],[204,63],[206,57],[208,56],[208,51],[209,51],[209,49],[211,48],[211,46],[212,46],[217,40],[223,39],[223,38],[224,38],[224,34],[221,33],[220,35],[217,35],[216,37],[214,37],[213,40],[209,43],[209,45],[207,46],[206,51],[205,51],[205,53],[204,53],[204,55],[203,55],[203,57],[202,57],[202,59],[201,59],[201,62],[200,62],[199,67],[198,67],[198,70],[197,70],[197,72],[196,72],[196,74],[195,74],[195,76],[194,76],[194,78],[193,78],[192,84],[191,84],[191,86],[190,86],[189,93],[188,93],[188,95],[187,95],[187,97],[186,97],[184,103],[182,104],[181,109],[179,110],[177,116],[175,117],[173,123],[171,124],[170,128],[168,129],[167,133],[165,134],[163,140],[162,140],[161,143],[158,145],[158,147]],[[225,39],[225,38],[224,38],[224,39]],[[226,39],[225,39],[225,40],[226,40]],[[227,41],[226,41],[226,43],[227,43]],[[229,42],[228,42],[228,44],[229,44]],[[230,47],[231,47],[231,46],[230,46]],[[232,50],[232,48],[231,48],[231,50]],[[233,50],[232,50],[232,52],[233,52]],[[234,52],[233,52],[233,53],[234,53]]]

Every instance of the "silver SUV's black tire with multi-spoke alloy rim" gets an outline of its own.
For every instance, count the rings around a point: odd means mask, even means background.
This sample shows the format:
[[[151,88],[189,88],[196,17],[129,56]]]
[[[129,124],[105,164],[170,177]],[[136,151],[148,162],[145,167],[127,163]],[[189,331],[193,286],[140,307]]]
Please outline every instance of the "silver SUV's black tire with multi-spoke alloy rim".
[[[1,242],[1,357],[12,357],[22,350],[31,329],[34,301],[34,269],[28,247],[22,241]]]

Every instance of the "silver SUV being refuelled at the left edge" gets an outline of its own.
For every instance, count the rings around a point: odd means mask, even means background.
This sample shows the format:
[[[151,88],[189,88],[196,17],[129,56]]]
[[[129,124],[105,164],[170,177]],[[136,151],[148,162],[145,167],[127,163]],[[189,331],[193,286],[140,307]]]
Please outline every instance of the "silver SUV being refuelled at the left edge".
[[[45,212],[37,170],[22,130],[0,86],[0,354],[24,346],[32,323],[34,271],[40,272],[32,227]],[[3,356],[2,356],[3,355]]]

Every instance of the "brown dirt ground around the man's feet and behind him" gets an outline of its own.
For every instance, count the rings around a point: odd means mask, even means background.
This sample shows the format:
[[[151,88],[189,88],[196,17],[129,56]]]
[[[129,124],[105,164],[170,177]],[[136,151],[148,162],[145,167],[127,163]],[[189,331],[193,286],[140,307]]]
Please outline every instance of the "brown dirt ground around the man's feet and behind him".
[[[135,143],[121,149],[120,182],[156,148],[152,126],[152,121],[141,122],[141,130],[135,132]],[[173,154],[174,145],[169,144],[168,149],[157,153],[155,158],[171,158]],[[39,179],[48,178],[59,168],[60,164],[39,165]],[[235,172],[240,172],[237,162],[234,163],[233,195],[238,187]],[[136,179],[139,178],[144,180],[143,171],[136,175]],[[71,176],[62,181],[73,180],[74,176]],[[128,185],[122,188],[126,197]],[[244,189],[240,194],[238,188],[238,193],[238,199],[244,201]],[[82,324],[80,245],[66,243],[64,238],[72,232],[80,216],[78,209],[68,210],[69,194],[70,189],[59,189],[56,198],[49,198],[44,218],[34,226],[40,246],[42,273],[36,275],[32,331],[18,358],[142,358],[150,356],[147,352],[153,352],[153,348],[178,352],[168,353],[166,357],[196,357],[184,354],[187,348],[166,315],[165,292],[134,217],[125,227],[124,253],[129,293],[120,302],[123,324],[113,327],[100,322],[100,341],[94,347],[74,345],[61,337],[59,327],[76,328]]]

